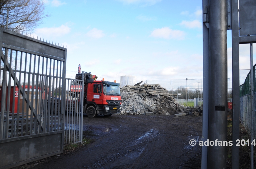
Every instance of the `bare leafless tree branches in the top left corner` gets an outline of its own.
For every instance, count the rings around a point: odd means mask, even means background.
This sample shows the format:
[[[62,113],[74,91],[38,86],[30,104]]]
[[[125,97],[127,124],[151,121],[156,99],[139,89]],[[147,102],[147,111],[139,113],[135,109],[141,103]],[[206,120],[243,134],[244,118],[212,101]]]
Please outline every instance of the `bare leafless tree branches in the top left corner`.
[[[45,17],[42,0],[0,0],[1,28],[31,33]]]

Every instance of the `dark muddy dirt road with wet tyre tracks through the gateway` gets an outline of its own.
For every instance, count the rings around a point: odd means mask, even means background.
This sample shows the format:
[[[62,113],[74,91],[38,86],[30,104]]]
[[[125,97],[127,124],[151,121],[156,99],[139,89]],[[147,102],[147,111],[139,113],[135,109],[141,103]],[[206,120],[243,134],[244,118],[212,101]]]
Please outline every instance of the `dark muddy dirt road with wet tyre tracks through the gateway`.
[[[95,142],[34,168],[200,168],[202,116],[84,117]]]

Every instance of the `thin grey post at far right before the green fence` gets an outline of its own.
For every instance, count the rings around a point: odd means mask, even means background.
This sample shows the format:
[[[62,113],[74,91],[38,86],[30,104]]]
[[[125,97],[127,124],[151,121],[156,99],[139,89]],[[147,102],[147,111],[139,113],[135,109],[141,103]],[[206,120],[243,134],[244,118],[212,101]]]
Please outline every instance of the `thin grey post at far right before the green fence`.
[[[250,43],[250,54],[251,54],[251,142],[253,140],[253,119],[254,119],[254,102],[253,102],[253,51],[252,51],[252,43]],[[253,169],[253,144],[251,144],[251,169]]]

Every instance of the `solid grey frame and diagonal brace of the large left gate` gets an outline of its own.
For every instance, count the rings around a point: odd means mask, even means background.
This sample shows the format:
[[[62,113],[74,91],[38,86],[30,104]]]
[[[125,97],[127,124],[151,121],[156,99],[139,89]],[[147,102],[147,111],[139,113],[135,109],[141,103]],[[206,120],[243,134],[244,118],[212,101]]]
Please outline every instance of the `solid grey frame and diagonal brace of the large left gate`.
[[[53,44],[31,38],[17,32],[12,32],[10,30],[6,30],[3,28],[0,28],[0,45],[1,45],[1,49],[2,47],[4,47],[4,48],[15,50],[15,51],[30,53],[32,55],[36,55],[39,57],[61,61],[63,63],[62,69],[60,68],[60,70],[62,71],[62,79],[60,77],[60,80],[62,81],[61,95],[62,96],[65,95],[67,49],[64,48],[64,46],[60,47],[57,45],[53,45]],[[3,60],[3,57],[5,56],[1,54],[1,57],[2,57],[1,59]],[[16,73],[14,74],[12,68],[10,68],[8,61],[5,61],[4,63],[5,65],[4,65],[3,72],[5,70],[9,71],[9,73],[12,76],[12,79],[13,80],[16,79],[16,84],[14,86],[18,86],[19,92],[23,95],[23,97],[25,98],[25,102],[27,102],[28,107],[31,110],[31,114],[33,113],[33,116],[35,116],[35,109],[33,108],[33,104],[31,104],[31,102],[27,100],[27,95],[22,92],[20,81],[17,79]],[[6,79],[3,79],[4,84],[6,83],[5,81]],[[3,86],[2,90],[3,90],[2,98],[6,98],[6,85],[5,85],[5,88]],[[4,112],[5,101],[6,99],[2,99],[1,112]],[[50,132],[44,131],[43,133],[39,133],[39,134],[31,134],[31,135],[12,137],[12,138],[3,138],[4,118],[3,116],[2,118],[0,117],[0,157],[2,160],[8,160],[9,156],[13,156],[12,158],[15,157],[15,159],[17,156],[19,157],[17,158],[17,161],[14,160],[14,161],[6,162],[7,165],[4,165],[5,163],[3,163],[1,166],[1,163],[0,163],[0,169],[12,168],[12,167],[23,165],[32,161],[42,159],[42,158],[47,158],[53,155],[63,153],[63,148],[64,148],[63,115],[65,111],[64,106],[65,104],[61,104],[60,121],[58,122],[58,124],[60,124],[60,130],[57,130],[57,131],[50,131]],[[35,119],[35,123],[36,121],[38,123],[38,120],[40,119],[38,118]],[[42,144],[42,140],[45,141],[44,144]]]

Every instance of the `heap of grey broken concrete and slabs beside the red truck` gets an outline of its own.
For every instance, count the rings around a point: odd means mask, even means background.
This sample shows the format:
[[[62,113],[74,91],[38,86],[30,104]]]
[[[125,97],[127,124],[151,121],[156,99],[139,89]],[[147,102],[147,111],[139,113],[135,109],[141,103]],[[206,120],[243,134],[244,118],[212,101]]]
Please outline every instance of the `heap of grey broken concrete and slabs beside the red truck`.
[[[122,96],[121,114],[125,115],[153,115],[188,113],[188,115],[201,115],[201,109],[189,108],[180,105],[175,98],[176,94],[168,93],[166,88],[159,84],[126,85],[120,89]]]

